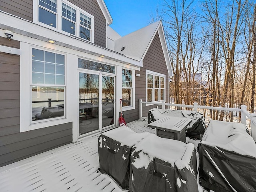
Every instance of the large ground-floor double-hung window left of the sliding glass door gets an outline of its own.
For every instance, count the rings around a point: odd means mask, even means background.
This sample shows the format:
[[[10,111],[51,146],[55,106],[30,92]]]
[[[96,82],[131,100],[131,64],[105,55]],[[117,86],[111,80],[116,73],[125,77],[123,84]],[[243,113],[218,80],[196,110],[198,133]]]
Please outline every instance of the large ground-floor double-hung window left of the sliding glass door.
[[[31,121],[65,116],[65,57],[32,48]]]

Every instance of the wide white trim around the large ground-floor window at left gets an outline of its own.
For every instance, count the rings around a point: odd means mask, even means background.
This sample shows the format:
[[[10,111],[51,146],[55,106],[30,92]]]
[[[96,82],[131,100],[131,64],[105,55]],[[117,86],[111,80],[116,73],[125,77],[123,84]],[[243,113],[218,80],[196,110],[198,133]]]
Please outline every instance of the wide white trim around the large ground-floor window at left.
[[[64,95],[64,104],[67,106],[67,55],[63,52],[59,52],[56,50],[51,50],[44,47],[32,46],[26,43],[20,43],[20,79],[22,80],[22,84],[20,84],[20,132],[36,130],[39,128],[44,128],[48,126],[54,126],[58,124],[63,124],[70,122],[67,118],[67,107],[64,109],[64,116],[33,121],[31,120],[32,114],[32,98],[31,98],[31,85],[32,85],[32,48],[36,48],[39,50],[54,52],[57,54],[62,54],[65,57],[65,95]],[[29,61],[29,64],[28,64]],[[42,86],[42,85],[40,85]],[[55,86],[55,85],[53,85]],[[56,85],[57,86],[57,85]],[[28,99],[29,98],[29,99]]]

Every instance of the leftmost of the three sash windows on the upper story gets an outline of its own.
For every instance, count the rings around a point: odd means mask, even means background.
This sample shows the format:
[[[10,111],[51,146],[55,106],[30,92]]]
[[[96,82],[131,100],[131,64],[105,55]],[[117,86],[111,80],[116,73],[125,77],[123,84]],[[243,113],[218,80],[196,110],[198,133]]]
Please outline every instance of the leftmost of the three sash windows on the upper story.
[[[39,0],[38,21],[56,28],[56,0]]]

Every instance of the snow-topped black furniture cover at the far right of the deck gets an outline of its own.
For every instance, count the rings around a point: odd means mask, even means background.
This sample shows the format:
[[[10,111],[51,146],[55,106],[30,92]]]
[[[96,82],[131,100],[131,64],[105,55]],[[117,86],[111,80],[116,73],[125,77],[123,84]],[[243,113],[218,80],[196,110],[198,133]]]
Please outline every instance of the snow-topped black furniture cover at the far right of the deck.
[[[211,120],[198,150],[202,186],[215,192],[256,191],[256,144],[244,124]]]

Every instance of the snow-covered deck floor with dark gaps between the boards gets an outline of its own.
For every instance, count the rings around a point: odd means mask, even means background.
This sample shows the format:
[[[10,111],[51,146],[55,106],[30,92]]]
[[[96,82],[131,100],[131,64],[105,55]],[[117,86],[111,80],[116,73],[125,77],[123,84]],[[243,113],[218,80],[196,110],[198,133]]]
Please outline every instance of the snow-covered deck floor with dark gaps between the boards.
[[[127,126],[135,132],[155,133],[148,122]],[[97,171],[98,136],[88,136],[42,154],[0,168],[1,192],[122,192],[116,182]]]

